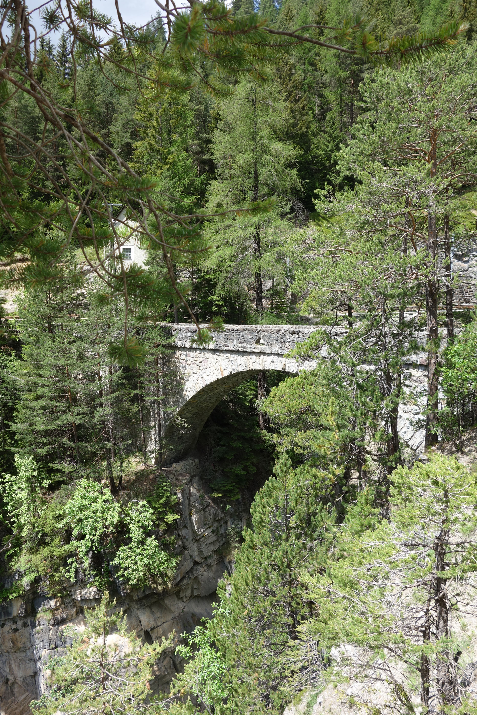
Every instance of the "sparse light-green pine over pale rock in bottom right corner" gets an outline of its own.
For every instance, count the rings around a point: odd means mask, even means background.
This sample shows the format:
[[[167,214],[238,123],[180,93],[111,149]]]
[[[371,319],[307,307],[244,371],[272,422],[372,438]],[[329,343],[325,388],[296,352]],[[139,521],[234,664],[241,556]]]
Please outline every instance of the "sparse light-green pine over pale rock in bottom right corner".
[[[473,636],[458,621],[476,573],[475,475],[436,454],[390,483],[389,520],[368,510],[360,536],[350,519],[326,573],[305,579],[317,611],[302,636],[329,654],[322,687],[341,684],[352,711],[380,693],[384,712],[472,712]]]

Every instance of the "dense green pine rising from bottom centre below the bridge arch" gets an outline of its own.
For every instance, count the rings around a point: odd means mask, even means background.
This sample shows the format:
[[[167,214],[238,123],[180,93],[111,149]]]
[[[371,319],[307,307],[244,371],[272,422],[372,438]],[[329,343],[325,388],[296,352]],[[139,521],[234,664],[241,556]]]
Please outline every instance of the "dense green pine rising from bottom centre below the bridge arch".
[[[212,674],[198,711],[214,707],[219,712],[277,713],[293,689],[303,688],[289,666],[291,654],[300,651],[300,626],[311,614],[305,573],[323,568],[333,535],[332,493],[328,473],[293,470],[283,457],[275,476],[256,495],[251,528],[243,533],[232,576],[220,583],[220,607],[202,638],[205,646],[209,641],[217,649],[215,677],[218,671],[221,689],[214,688]],[[182,694],[197,694],[196,666],[192,659],[179,676]],[[187,711],[187,705],[176,711]]]

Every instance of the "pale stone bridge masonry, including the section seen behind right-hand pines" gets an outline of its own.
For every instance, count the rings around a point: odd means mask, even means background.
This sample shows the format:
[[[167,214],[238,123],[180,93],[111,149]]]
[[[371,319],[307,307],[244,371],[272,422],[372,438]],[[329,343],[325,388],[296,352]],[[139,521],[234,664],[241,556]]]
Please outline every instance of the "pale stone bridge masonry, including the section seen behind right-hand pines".
[[[407,316],[413,317],[413,314]],[[195,325],[164,323],[174,337],[172,363],[176,385],[167,395],[168,410],[162,434],[165,435],[166,462],[184,458],[194,448],[200,431],[215,406],[229,390],[250,380],[262,370],[278,370],[296,375],[301,370],[313,370],[315,358],[290,358],[298,343],[308,340],[318,330],[333,330],[333,335],[345,335],[346,327],[317,325],[225,325],[215,332],[208,345],[193,342]],[[202,327],[207,327],[204,325]],[[445,338],[445,331],[443,331]],[[401,438],[417,453],[424,446],[422,409],[426,392],[426,333],[417,336],[418,350],[406,358],[404,400],[399,408],[398,429]],[[326,347],[322,357],[326,357]],[[180,421],[177,422],[177,417]]]

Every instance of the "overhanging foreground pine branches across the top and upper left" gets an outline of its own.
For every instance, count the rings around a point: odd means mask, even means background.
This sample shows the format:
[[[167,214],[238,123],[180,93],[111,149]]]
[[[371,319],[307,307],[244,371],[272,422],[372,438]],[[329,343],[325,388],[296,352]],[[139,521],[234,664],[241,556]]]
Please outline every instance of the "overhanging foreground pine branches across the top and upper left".
[[[9,260],[21,249],[30,259],[26,265],[2,272],[2,281],[10,286],[36,285],[39,280],[48,282],[58,277],[64,250],[72,240],[76,241],[84,260],[104,283],[103,300],[122,295],[124,333],[122,342],[112,350],[119,362],[128,365],[144,358],[137,338],[128,335],[129,295],[135,295],[137,302],[147,303],[154,280],[149,276],[142,281],[137,270],[126,270],[122,264],[117,265],[117,271],[99,270],[103,265],[102,250],[112,240],[118,240],[111,204],[124,204],[134,220],[135,232],[162,252],[169,292],[172,290],[177,301],[185,305],[196,322],[201,341],[210,340],[210,334],[190,312],[175,279],[174,262],[179,256],[197,256],[204,244],[196,227],[197,215],[171,215],[164,206],[164,197],[155,192],[156,183],[150,177],[139,176],[117,154],[114,142],[104,141],[89,126],[88,112],[78,102],[77,79],[91,60],[101,66],[104,77],[119,92],[129,92],[131,79],[143,96],[143,88],[149,82],[157,89],[168,86],[182,93],[190,91],[198,80],[202,87],[229,94],[230,86],[222,81],[225,74],[238,81],[245,75],[261,80],[270,62],[304,42],[389,64],[447,49],[466,30],[466,26],[454,22],[435,37],[385,40],[380,44],[365,29],[362,19],[353,25],[346,21],[342,27],[331,29],[335,36],[317,39],[303,34],[303,28],[287,31],[265,27],[255,13],[234,17],[232,10],[217,0],[213,6],[196,3],[190,11],[166,7],[164,14],[169,49],[165,54],[157,43],[156,20],[151,29],[143,31],[124,24],[119,6],[117,24],[92,5],[88,11],[81,4],[72,11],[69,6],[63,7],[61,0],[54,6],[45,6],[41,11],[44,34],[67,33],[59,59],[63,77],[56,82],[54,92],[45,90],[36,74],[46,65],[44,54],[37,51],[36,28],[24,0],[21,9],[14,0],[7,0],[1,18],[1,28],[15,18],[11,30],[2,30],[8,38],[4,53],[14,61],[0,70],[1,252]],[[313,26],[311,34],[317,29],[320,27]],[[343,44],[337,44],[340,42]],[[66,43],[74,46],[79,60],[72,62],[71,69],[63,56]],[[154,70],[149,72],[152,67]],[[27,97],[41,117],[41,129],[35,135],[24,134],[10,121],[9,104],[17,94]],[[150,95],[152,101],[153,95],[154,92]],[[57,141],[60,137],[61,142]],[[250,206],[242,205],[240,212],[252,215],[266,208],[267,204],[252,202]],[[237,207],[230,210],[237,211]],[[54,237],[49,234],[51,225],[56,228]],[[166,282],[157,280],[154,292],[161,291],[167,292]]]

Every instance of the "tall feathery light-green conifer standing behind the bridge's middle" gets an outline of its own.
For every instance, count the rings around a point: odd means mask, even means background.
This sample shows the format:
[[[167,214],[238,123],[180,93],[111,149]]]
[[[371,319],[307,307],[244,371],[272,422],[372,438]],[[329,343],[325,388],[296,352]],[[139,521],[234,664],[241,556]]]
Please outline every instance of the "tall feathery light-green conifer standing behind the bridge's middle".
[[[284,215],[292,194],[301,190],[295,152],[280,141],[286,114],[273,87],[246,79],[222,102],[220,112],[213,144],[217,178],[210,184],[209,207],[225,212],[262,200],[269,203],[270,215],[217,218],[207,230],[214,250],[205,265],[220,271],[221,285],[252,283],[256,310],[262,312],[263,277],[280,281],[285,275],[280,237],[291,225]]]

